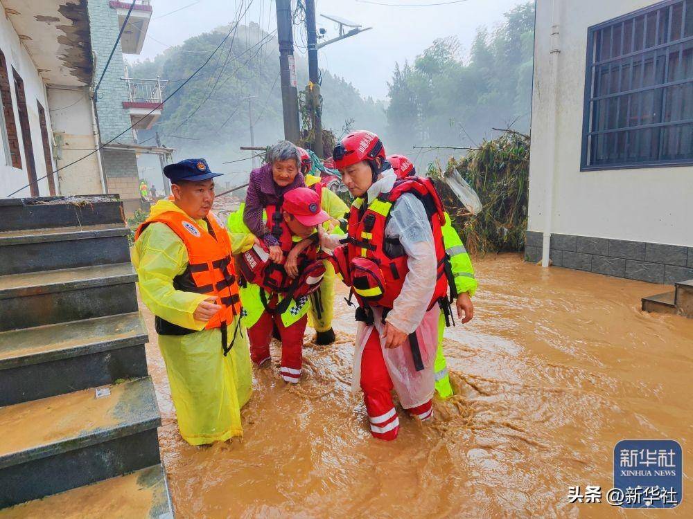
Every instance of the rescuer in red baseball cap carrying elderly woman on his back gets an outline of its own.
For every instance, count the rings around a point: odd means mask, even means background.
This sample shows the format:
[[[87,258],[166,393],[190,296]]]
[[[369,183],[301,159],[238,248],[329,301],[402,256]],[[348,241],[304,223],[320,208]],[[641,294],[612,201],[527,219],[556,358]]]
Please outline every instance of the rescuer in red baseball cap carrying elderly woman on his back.
[[[284,194],[281,218],[274,217],[276,210],[275,206],[266,206],[263,220],[277,237],[282,262],[272,262],[266,246],[259,241],[245,251],[241,246],[237,262],[245,283],[241,286],[240,298],[252,361],[256,365],[270,361],[270,341],[276,327],[281,340],[279,374],[285,382],[298,383],[303,363],[308,295],[317,290],[325,272],[316,226],[330,217],[320,208],[319,194],[309,188],[294,188]],[[248,243],[250,231],[242,215],[243,208],[240,208],[229,216],[229,232],[234,244]],[[290,261],[296,244],[310,237],[313,237],[312,244],[302,248]]]

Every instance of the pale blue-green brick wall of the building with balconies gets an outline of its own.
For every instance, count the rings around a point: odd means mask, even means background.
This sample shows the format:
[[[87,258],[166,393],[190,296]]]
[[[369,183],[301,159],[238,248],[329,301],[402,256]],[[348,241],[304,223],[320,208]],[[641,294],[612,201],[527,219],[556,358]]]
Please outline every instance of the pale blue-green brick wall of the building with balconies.
[[[91,48],[96,53],[96,79],[94,80],[96,83],[103,73],[108,55],[118,38],[120,26],[116,10],[109,6],[108,0],[89,0],[88,9]],[[129,100],[128,86],[121,80],[124,74],[125,61],[119,43],[96,95],[98,126],[103,143],[108,142],[132,124],[130,111],[123,108],[123,101]],[[114,142],[132,144],[134,142],[132,131],[127,131]]]

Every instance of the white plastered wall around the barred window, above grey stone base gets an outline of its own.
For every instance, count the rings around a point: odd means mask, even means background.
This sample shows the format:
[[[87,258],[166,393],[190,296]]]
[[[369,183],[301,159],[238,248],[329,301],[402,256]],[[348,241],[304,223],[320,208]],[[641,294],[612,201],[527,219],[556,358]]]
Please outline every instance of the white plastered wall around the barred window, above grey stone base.
[[[654,5],[651,0],[555,0],[558,84],[550,64],[552,0],[536,2],[532,156],[528,230],[693,246],[693,167],[580,171],[588,27]],[[556,134],[549,134],[558,89]],[[554,172],[552,226],[545,228],[546,188]]]

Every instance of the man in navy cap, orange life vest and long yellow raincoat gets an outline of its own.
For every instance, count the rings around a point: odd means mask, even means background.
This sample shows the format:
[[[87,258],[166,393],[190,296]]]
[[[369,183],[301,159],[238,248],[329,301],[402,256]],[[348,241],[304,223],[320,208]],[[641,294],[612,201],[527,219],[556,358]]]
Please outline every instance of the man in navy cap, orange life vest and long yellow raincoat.
[[[202,159],[164,168],[173,200],[137,230],[132,262],[157,317],[159,347],[182,437],[191,445],[243,435],[252,370],[229,235],[211,209],[214,176]]]

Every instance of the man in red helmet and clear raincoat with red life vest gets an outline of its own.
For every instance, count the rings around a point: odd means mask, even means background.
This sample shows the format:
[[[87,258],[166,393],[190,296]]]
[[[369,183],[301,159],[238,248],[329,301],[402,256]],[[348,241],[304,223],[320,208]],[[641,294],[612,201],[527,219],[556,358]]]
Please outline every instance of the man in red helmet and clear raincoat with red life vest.
[[[347,244],[325,233],[321,244],[334,250],[335,270],[359,302],[352,388],[360,383],[371,434],[392,440],[399,430],[392,390],[410,415],[432,417],[437,327],[448,289],[444,209],[428,179],[397,179],[376,134],[347,135],[333,158],[355,200]]]

